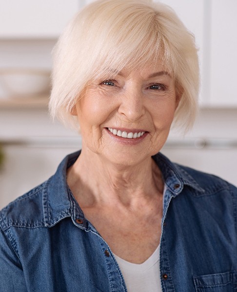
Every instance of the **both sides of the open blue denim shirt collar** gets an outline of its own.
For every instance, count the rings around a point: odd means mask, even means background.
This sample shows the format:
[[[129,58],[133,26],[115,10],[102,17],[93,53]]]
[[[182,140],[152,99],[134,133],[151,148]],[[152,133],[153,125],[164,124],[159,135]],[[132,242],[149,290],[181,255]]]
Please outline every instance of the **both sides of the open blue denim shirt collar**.
[[[55,175],[45,183],[42,200],[45,226],[52,227],[60,220],[71,217],[74,224],[78,227],[82,229],[89,228],[88,222],[85,220],[83,212],[66,182],[67,168],[75,163],[79,155],[80,151],[77,151],[66,156],[59,164]],[[178,196],[184,186],[189,186],[200,193],[204,192],[183,167],[172,163],[161,153],[154,155],[152,158],[162,172],[163,180],[169,190],[169,196]],[[78,222],[81,223],[78,224]]]

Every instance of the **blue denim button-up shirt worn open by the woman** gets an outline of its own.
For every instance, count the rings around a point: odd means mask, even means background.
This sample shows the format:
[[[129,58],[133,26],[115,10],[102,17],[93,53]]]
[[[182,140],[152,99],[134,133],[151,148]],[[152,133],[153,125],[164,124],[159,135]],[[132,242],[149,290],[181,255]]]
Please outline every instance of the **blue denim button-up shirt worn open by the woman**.
[[[54,176],[0,212],[0,292],[126,292],[110,247]],[[163,292],[237,291],[237,188],[215,176],[158,164],[166,192],[160,240]],[[156,232],[154,230],[154,232]]]

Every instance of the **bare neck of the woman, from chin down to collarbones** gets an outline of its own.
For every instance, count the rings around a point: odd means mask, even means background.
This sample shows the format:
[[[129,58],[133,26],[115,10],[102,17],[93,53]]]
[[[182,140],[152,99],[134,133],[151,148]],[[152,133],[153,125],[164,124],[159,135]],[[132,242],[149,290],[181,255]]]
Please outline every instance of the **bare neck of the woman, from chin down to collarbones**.
[[[117,203],[131,206],[163,192],[160,170],[151,157],[135,165],[118,165],[82,150],[67,178],[81,207]]]

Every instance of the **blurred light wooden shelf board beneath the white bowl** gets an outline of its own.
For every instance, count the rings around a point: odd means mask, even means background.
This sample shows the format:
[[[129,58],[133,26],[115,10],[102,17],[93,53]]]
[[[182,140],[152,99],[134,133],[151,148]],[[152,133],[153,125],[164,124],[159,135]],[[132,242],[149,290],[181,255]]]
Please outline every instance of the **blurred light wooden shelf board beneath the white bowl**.
[[[34,96],[34,97],[9,97],[0,98],[1,109],[44,109],[48,107],[49,96]]]

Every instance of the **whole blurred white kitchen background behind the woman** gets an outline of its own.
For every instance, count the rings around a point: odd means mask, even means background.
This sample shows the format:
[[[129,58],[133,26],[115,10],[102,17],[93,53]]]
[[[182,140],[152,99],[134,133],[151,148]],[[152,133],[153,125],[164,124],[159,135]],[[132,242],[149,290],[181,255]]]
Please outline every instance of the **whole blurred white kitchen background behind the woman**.
[[[79,134],[47,112],[51,51],[92,0],[0,0],[0,208],[46,180]],[[172,131],[171,160],[237,185],[237,1],[163,0],[197,39],[200,114],[185,137]]]

